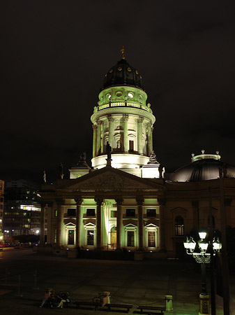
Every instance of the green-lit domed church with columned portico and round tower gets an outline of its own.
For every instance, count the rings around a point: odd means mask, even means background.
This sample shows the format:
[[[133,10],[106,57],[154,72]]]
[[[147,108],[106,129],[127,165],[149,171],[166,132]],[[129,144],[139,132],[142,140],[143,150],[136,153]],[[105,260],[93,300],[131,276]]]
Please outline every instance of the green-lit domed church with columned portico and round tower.
[[[40,244],[181,255],[185,235],[209,226],[209,187],[220,230],[219,153],[202,151],[164,179],[153,152],[156,118],[142,76],[123,51],[98,97],[91,116],[92,169],[81,155],[70,179],[43,184]],[[228,225],[235,226],[235,167],[227,165],[225,177]]]

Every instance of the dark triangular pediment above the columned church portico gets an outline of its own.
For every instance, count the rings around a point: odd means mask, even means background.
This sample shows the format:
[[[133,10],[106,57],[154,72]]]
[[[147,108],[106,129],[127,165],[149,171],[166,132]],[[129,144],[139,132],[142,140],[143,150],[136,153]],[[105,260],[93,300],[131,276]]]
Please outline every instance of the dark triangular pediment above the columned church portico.
[[[162,189],[159,183],[153,183],[148,179],[142,179],[135,175],[128,174],[119,169],[104,167],[78,179],[67,181],[64,186],[58,187],[65,191],[109,191],[109,190],[149,190],[157,191]]]

